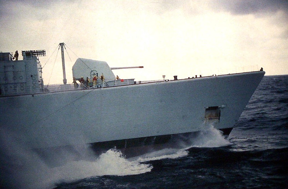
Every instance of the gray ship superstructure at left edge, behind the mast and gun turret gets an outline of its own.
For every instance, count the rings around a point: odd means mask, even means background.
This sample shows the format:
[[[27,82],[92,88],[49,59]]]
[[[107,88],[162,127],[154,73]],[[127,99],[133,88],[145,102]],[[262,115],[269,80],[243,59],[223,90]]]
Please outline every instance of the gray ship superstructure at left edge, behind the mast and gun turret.
[[[39,56],[45,56],[45,50],[22,51],[22,56],[23,60],[13,61],[11,53],[0,53],[1,96],[43,91]]]

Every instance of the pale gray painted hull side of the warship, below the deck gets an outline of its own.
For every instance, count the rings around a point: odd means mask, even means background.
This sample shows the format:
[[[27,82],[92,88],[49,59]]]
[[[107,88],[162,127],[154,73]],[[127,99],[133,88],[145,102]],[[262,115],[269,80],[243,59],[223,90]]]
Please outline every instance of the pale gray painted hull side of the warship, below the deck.
[[[1,97],[1,135],[30,149],[109,141],[125,147],[127,140],[206,130],[209,107],[219,109],[214,127],[229,131],[264,73]]]

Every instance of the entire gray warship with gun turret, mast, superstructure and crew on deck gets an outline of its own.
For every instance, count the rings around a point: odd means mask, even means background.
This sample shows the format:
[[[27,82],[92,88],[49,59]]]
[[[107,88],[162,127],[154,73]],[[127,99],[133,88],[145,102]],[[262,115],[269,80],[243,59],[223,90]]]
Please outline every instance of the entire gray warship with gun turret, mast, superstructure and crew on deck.
[[[229,135],[262,80],[263,69],[151,82],[116,78],[104,61],[78,58],[74,81],[45,86],[39,57],[23,60],[0,53],[2,136],[39,153],[43,149],[90,144],[94,149],[157,145],[177,135],[205,131],[211,124]],[[85,77],[85,78],[83,78]],[[84,79],[84,82],[83,80]]]

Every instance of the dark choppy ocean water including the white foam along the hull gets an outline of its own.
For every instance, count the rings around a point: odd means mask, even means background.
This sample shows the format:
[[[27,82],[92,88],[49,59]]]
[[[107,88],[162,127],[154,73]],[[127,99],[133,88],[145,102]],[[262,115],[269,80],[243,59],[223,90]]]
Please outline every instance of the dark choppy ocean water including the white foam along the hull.
[[[58,189],[288,188],[288,75],[263,78],[228,138],[211,129],[193,136],[190,145],[133,159],[109,150],[89,170],[98,176],[81,174],[82,179],[54,184]],[[73,166],[91,169],[86,163]]]

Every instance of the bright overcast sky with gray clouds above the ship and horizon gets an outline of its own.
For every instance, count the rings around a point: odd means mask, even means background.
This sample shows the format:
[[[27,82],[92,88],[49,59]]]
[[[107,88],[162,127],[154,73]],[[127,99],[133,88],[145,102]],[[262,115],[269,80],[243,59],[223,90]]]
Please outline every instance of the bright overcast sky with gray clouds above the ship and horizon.
[[[62,83],[60,52],[55,62],[61,42],[71,58],[65,53],[68,83],[78,57],[144,66],[114,71],[123,79],[261,67],[266,75],[288,74],[286,0],[2,0],[0,8],[0,51],[45,49],[45,84]]]

